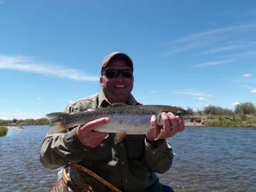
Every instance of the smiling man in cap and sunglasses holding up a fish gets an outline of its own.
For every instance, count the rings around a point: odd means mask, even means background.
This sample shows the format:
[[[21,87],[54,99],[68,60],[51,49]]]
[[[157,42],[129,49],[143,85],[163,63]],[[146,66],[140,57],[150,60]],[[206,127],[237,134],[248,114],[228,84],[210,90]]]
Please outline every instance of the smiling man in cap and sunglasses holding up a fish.
[[[101,64],[99,93],[77,100],[65,108],[67,113],[77,113],[90,108],[106,108],[115,102],[138,105],[131,95],[134,77],[131,58],[122,52],[106,56]],[[163,133],[154,141],[157,129],[156,116],[148,126],[147,135],[127,135],[114,144],[115,134],[93,131],[108,124],[108,117],[93,120],[61,134],[45,137],[40,161],[47,168],[58,168],[67,163],[79,163],[108,180],[121,191],[162,191],[155,172],[169,170],[173,153],[166,138],[184,130],[184,122],[172,113],[162,113]],[[148,120],[149,121],[149,120]]]

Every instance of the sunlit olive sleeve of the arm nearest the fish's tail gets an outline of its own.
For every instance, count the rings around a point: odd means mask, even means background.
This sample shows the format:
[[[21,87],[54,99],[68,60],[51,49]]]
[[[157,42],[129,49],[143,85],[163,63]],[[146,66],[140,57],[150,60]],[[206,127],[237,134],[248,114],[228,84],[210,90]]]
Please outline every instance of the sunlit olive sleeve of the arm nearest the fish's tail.
[[[65,110],[72,113],[76,109],[68,105]],[[58,168],[67,163],[79,163],[90,147],[84,146],[76,137],[76,127],[67,132],[46,134],[40,151],[40,162],[46,168]]]

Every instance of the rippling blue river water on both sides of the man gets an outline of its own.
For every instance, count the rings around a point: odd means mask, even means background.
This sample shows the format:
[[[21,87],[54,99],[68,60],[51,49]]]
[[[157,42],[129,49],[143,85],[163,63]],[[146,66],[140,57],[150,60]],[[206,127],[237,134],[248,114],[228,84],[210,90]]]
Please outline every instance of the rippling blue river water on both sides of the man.
[[[47,126],[9,129],[0,137],[0,191],[49,191],[57,170],[44,168]],[[172,168],[159,175],[175,191],[256,191],[256,129],[186,127],[170,138]]]

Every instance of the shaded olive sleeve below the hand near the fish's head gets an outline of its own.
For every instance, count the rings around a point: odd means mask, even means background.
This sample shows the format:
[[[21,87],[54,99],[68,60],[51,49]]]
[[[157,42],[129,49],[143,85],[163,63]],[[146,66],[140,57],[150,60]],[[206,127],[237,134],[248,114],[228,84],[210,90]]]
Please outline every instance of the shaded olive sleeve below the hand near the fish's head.
[[[146,145],[145,164],[148,170],[157,173],[167,172],[172,166],[173,152],[170,143],[164,140],[159,147]]]

